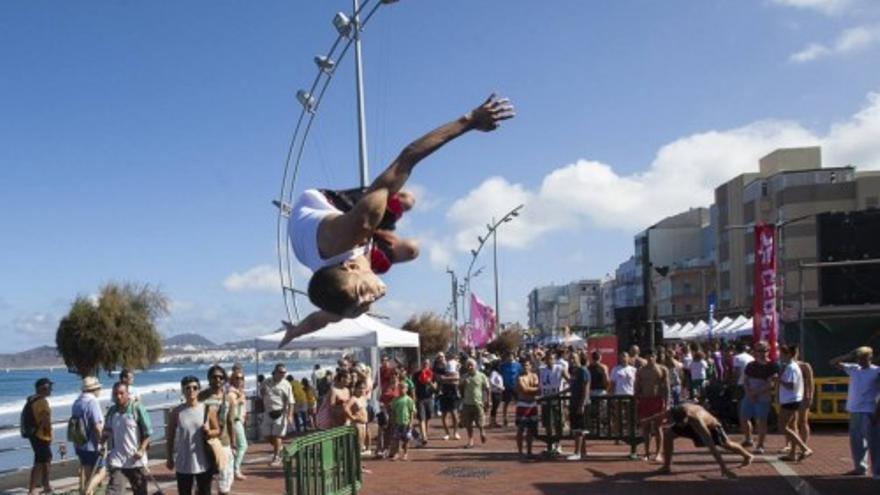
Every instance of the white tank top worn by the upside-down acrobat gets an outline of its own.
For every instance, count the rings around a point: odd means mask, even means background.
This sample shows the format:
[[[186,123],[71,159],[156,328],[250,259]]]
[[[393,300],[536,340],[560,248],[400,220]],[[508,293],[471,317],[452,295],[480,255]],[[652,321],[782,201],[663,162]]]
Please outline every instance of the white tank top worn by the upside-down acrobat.
[[[366,253],[366,246],[358,246],[331,258],[321,257],[318,251],[318,226],[328,215],[341,213],[317,189],[303,191],[294,203],[287,224],[287,235],[296,259],[309,270],[316,272],[325,266],[338,265]]]

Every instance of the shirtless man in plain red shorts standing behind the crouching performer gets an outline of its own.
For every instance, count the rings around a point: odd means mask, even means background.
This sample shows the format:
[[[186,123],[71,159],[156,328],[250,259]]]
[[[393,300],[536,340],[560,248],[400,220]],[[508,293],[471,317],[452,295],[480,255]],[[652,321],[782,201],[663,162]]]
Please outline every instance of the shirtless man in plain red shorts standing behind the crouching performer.
[[[650,418],[666,411],[669,397],[669,370],[665,366],[657,364],[654,350],[648,349],[642,353],[645,364],[636,372],[635,396],[638,401],[639,419]],[[655,461],[660,461],[661,445],[663,445],[663,431],[660,430],[660,422],[657,419],[643,421],[642,437],[645,439],[645,460],[651,459],[651,438],[654,438],[656,446]]]

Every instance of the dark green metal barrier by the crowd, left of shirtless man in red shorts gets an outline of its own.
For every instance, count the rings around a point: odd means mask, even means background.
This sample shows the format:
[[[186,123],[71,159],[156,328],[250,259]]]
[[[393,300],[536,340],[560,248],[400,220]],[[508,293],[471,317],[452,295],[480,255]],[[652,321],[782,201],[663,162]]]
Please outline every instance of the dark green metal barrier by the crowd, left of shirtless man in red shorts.
[[[564,411],[568,411],[571,395],[560,392],[538,399],[541,406],[541,424],[544,433],[538,440],[547,443],[547,451],[560,440],[573,439],[571,428],[566,430]],[[587,440],[617,440],[630,446],[630,458],[637,459],[636,448],[643,439],[639,428],[636,398],[631,395],[603,395],[590,397],[586,416]]]

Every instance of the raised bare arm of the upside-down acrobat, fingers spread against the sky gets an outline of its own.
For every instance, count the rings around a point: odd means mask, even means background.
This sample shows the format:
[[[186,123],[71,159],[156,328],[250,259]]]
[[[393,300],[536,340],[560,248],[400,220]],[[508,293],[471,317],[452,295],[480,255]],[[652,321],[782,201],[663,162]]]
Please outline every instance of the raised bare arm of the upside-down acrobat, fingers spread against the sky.
[[[319,235],[319,245],[322,244],[323,237],[325,242],[332,243],[333,247],[322,249],[322,252],[343,252],[369,239],[385,214],[388,198],[403,188],[413,168],[425,157],[468,131],[493,131],[498,128],[502,120],[513,116],[513,106],[510,101],[492,94],[482,105],[464,116],[434,129],[407,145],[391,165],[376,177],[367,193],[351,211],[327,221],[327,227],[322,228],[325,235]]]

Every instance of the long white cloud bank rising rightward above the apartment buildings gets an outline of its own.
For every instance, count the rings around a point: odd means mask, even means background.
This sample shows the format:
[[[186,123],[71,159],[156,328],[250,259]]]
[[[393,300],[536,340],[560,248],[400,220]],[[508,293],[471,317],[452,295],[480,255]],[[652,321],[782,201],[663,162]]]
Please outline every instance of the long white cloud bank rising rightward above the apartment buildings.
[[[880,94],[850,119],[818,135],[797,122],[762,120],[735,129],[707,131],[662,146],[643,171],[621,174],[609,164],[588,159],[547,174],[537,190],[487,179],[456,201],[447,219],[457,249],[476,246],[492,215],[524,203],[520,218],[505,226],[499,242],[525,247],[539,236],[588,224],[609,229],[643,229],[690,207],[708,206],[715,187],[758,169],[758,160],[776,148],[823,147],[825,163],[880,168]]]

